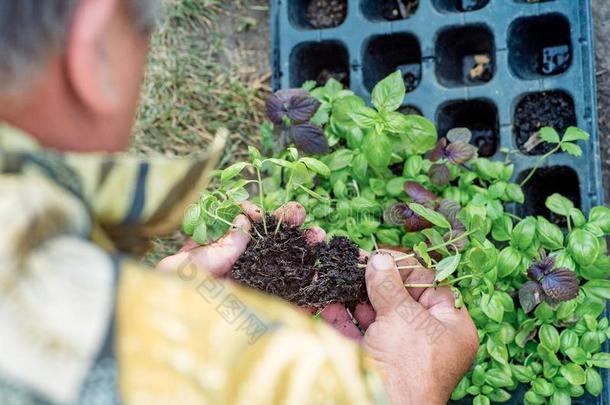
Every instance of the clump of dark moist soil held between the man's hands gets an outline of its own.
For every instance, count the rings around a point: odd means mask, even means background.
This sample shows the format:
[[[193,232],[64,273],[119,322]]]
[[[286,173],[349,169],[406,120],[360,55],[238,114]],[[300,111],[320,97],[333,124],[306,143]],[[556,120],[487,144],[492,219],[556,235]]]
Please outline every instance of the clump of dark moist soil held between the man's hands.
[[[236,281],[297,305],[322,307],[368,300],[358,246],[344,237],[311,245],[303,231],[267,217],[268,236],[254,237],[233,266]],[[254,224],[265,235],[261,223]],[[257,232],[254,232],[257,235]]]

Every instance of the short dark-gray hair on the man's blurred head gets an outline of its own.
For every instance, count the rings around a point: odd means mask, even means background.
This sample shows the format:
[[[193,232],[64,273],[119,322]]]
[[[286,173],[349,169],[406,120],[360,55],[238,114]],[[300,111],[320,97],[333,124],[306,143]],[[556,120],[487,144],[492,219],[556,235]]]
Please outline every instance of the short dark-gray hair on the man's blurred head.
[[[19,91],[62,51],[78,1],[0,0],[0,94]],[[153,29],[158,0],[121,1],[139,29]]]

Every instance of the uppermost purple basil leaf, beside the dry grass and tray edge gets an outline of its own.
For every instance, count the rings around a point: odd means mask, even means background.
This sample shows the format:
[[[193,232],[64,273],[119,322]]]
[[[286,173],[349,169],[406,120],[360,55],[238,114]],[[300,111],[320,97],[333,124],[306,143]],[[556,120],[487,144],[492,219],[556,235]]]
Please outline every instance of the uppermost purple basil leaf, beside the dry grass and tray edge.
[[[279,90],[267,100],[267,116],[276,125],[288,117],[304,122],[314,116],[320,103],[303,89]]]

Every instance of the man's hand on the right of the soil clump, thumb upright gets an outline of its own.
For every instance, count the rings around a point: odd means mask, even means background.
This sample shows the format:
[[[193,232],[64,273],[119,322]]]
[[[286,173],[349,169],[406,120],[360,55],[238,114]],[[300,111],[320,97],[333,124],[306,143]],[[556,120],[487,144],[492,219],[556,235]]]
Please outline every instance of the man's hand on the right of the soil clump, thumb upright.
[[[423,267],[399,272],[398,256],[404,254],[381,251],[368,262],[366,283],[374,312],[361,306],[356,315],[375,319],[362,344],[393,404],[445,404],[472,364],[477,331],[466,309],[454,307],[448,287],[405,289],[405,282],[431,283],[434,273]],[[409,259],[400,265],[419,263]]]

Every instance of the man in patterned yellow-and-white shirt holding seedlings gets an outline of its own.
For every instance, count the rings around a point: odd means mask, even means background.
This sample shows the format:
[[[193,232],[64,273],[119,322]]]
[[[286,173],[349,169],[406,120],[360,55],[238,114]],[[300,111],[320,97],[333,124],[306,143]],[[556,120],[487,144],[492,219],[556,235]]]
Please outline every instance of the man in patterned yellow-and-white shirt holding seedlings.
[[[177,228],[217,152],[104,154],[128,143],[153,17],[153,0],[0,0],[0,403],[446,402],[476,330],[447,289],[407,292],[431,272],[400,274],[391,253],[368,262],[358,342],[222,280],[246,216],[164,271],[129,258]]]

